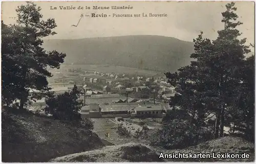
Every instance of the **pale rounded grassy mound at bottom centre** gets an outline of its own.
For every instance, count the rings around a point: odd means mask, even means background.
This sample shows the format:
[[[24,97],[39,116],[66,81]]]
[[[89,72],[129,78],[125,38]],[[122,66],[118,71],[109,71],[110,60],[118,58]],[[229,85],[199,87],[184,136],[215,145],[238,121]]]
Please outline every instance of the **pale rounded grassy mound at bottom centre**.
[[[105,146],[102,149],[70,154],[51,162],[163,162],[152,148],[138,144]]]

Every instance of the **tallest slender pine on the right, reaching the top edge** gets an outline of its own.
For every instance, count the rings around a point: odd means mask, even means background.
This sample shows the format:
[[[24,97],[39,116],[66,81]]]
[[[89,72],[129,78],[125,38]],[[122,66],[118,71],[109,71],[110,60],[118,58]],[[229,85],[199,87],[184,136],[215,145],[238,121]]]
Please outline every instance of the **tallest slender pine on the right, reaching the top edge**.
[[[240,84],[240,67],[243,66],[244,54],[250,52],[249,46],[245,45],[246,38],[239,40],[238,37],[241,33],[236,29],[242,22],[236,21],[238,15],[234,13],[237,10],[234,7],[235,3],[231,2],[226,5],[226,11],[222,13],[224,22],[224,29],[218,31],[218,38],[212,43],[215,46],[215,57],[217,62],[214,69],[218,73],[219,78],[219,98],[221,100],[219,104],[216,127],[219,125],[220,118],[220,133],[219,136],[223,136],[226,108],[233,99],[232,95],[235,95],[234,88],[237,88]],[[220,117],[219,117],[220,116]],[[218,130],[215,133],[217,138]]]

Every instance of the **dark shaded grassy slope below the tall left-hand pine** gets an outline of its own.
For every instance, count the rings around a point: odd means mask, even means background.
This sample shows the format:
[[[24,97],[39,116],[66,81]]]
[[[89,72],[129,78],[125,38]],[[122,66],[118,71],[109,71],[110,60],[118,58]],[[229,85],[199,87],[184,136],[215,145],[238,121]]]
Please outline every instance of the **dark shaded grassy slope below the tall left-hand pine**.
[[[2,113],[4,162],[44,162],[104,145],[95,133],[58,120],[28,113]]]

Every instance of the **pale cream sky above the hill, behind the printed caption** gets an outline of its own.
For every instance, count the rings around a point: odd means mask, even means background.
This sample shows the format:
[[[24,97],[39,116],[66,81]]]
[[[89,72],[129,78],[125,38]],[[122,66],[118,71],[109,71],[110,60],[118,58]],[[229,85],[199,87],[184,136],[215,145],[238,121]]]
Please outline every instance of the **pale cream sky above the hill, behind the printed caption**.
[[[42,8],[44,19],[54,18],[57,24],[54,36],[48,39],[77,39],[90,37],[109,37],[125,35],[160,35],[175,37],[180,40],[193,41],[200,31],[204,37],[215,39],[217,31],[222,30],[221,12],[225,11],[228,2],[35,2]],[[2,20],[6,24],[15,23],[15,9],[25,2],[2,3]],[[89,6],[90,10],[60,10],[59,6]],[[93,6],[132,6],[132,10],[93,10]],[[57,10],[50,10],[56,6]],[[236,2],[239,20],[244,24],[239,30],[247,44],[254,43],[254,3]],[[83,13],[91,15],[107,14],[106,18],[83,17]],[[167,14],[167,17],[112,17],[116,14]]]

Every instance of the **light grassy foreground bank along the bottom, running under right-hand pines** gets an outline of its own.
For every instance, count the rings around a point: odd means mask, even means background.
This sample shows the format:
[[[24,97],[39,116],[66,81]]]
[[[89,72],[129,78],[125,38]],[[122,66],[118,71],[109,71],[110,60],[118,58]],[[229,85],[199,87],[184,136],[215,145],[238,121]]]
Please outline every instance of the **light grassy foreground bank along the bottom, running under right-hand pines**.
[[[248,159],[191,159],[191,158],[159,158],[160,154],[173,153],[248,153]],[[237,137],[223,137],[216,140],[211,140],[201,143],[197,146],[191,146],[180,150],[164,150],[160,147],[150,147],[140,143],[127,143],[123,145],[106,146],[98,150],[86,151],[82,153],[70,154],[62,157],[57,157],[50,162],[170,162],[170,161],[223,161],[234,162],[242,161],[248,162],[254,160],[254,144],[247,142]]]

